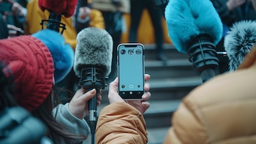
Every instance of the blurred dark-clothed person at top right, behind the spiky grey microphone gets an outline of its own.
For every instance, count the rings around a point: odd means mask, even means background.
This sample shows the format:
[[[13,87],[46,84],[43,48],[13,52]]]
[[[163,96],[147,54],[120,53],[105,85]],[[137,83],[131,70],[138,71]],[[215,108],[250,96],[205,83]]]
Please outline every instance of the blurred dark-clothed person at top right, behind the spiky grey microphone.
[[[211,0],[223,23],[223,37],[216,46],[217,51],[225,51],[224,37],[233,23],[240,20],[256,20],[256,12],[250,0]],[[228,71],[227,56],[219,57],[219,73]]]

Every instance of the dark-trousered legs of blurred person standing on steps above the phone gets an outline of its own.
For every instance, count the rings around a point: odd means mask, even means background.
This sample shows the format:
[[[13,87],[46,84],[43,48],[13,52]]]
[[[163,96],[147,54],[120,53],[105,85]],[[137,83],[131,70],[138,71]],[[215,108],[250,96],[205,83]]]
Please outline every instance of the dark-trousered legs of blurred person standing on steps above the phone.
[[[156,43],[157,59],[167,61],[167,56],[163,53],[164,34],[162,30],[162,11],[154,7],[151,0],[131,0],[131,25],[129,29],[129,42],[138,42],[138,26],[143,10],[146,8],[151,18],[154,28],[154,39]]]

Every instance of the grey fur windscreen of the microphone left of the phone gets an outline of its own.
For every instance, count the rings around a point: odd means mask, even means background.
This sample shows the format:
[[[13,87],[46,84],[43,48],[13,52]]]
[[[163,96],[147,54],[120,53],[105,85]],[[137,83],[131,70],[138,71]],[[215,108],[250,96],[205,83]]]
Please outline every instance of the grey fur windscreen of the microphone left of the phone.
[[[75,75],[86,65],[99,65],[105,68],[105,75],[111,72],[113,39],[105,29],[89,27],[78,33],[75,48]]]

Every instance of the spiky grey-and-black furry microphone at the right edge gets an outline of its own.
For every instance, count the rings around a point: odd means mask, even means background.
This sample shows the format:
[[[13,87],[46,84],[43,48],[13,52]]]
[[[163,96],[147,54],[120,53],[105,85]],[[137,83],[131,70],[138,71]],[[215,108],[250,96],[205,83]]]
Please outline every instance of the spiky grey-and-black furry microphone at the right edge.
[[[224,39],[224,47],[229,58],[229,69],[238,69],[244,57],[256,43],[256,21],[242,20],[233,24]]]

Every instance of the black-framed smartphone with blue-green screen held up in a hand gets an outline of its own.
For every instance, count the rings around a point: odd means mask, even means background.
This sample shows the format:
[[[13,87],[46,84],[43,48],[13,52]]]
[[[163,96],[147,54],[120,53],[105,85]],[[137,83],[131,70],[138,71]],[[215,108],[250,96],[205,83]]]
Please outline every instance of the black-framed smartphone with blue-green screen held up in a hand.
[[[125,100],[139,100],[144,94],[144,46],[122,43],[117,53],[118,94]]]

